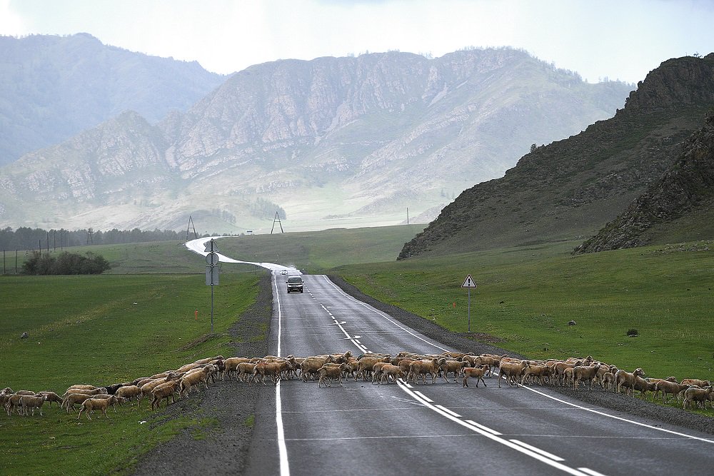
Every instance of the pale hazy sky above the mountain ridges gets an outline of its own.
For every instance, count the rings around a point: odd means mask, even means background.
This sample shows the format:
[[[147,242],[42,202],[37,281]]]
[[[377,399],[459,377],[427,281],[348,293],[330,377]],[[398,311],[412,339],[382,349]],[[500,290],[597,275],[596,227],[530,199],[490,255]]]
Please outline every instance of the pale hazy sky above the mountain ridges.
[[[636,83],[714,51],[713,0],[0,0],[0,34],[86,32],[216,73],[276,59],[514,46],[558,68]]]

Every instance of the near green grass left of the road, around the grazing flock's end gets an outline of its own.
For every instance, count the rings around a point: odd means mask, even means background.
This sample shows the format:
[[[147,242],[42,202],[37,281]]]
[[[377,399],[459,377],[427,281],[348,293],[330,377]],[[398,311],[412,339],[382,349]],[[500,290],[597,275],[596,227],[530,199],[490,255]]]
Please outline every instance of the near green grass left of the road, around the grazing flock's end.
[[[200,258],[200,257],[199,257]],[[200,275],[0,276],[0,386],[64,393],[230,354],[227,330],[257,295],[254,273],[226,273],[211,293]],[[195,318],[198,310],[198,320]],[[29,338],[20,339],[27,332]],[[151,425],[156,412],[124,405],[89,421],[44,405],[44,417],[0,417],[4,474],[126,472],[141,453],[183,427],[203,437],[210,418]],[[149,420],[149,423],[139,422]],[[206,421],[204,421],[206,420]]]

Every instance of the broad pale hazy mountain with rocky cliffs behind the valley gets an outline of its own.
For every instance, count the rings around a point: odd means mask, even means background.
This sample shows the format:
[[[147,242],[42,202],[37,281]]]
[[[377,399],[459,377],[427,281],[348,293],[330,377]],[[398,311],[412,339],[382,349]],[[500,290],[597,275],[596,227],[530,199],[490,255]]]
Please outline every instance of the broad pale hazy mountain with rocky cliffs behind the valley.
[[[612,116],[628,91],[514,49],[259,64],[186,113],[124,113],[0,169],[0,219],[181,229],[190,214],[238,233],[271,226],[260,200],[293,230],[401,223]]]

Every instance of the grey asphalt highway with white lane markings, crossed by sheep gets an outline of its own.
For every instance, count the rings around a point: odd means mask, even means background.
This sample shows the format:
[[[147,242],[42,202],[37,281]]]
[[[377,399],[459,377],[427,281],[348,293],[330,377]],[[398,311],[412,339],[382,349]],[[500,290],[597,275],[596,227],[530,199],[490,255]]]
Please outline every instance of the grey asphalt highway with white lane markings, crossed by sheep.
[[[286,268],[253,264],[273,270],[275,355],[454,350],[324,275],[303,275],[304,293],[288,295],[286,276],[278,274]],[[496,378],[486,378],[487,388],[476,388],[475,379],[470,388],[453,378],[427,382],[349,378],[318,388],[317,381],[281,380],[256,410],[247,474],[714,474],[714,438],[706,433],[586,406],[548,386],[509,388],[504,380],[498,388]]]

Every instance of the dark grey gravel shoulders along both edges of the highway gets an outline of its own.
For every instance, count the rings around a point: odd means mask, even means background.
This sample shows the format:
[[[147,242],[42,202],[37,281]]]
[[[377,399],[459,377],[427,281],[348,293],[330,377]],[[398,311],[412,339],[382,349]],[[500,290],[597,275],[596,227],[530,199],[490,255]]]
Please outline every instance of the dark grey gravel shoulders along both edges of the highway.
[[[353,297],[388,313],[401,323],[417,330],[451,348],[463,352],[508,354],[523,358],[523,355],[509,353],[496,345],[479,343],[463,335],[448,331],[441,326],[423,319],[418,315],[393,305],[381,303],[361,293],[353,285],[338,276],[329,276],[333,283]],[[241,315],[230,330],[235,355],[267,355],[268,335],[273,310],[271,275],[264,273],[258,283],[256,303]],[[266,329],[268,329],[266,331]],[[696,415],[673,407],[655,405],[639,398],[625,397],[603,390],[573,391],[568,388],[555,388],[563,395],[569,395],[584,406],[608,408],[619,412],[621,417],[644,417],[662,423],[677,425],[691,430],[698,430],[714,435],[714,419]],[[156,412],[149,419],[149,425],[161,425],[163,422],[181,416],[213,419],[214,424],[196,429],[181,431],[174,439],[161,443],[146,453],[134,467],[134,475],[159,474],[196,474],[236,475],[245,471],[248,451],[253,437],[252,419],[256,415],[256,405],[268,399],[272,387],[248,385],[211,385],[208,390],[201,390],[198,395],[178,400],[166,410]]]

